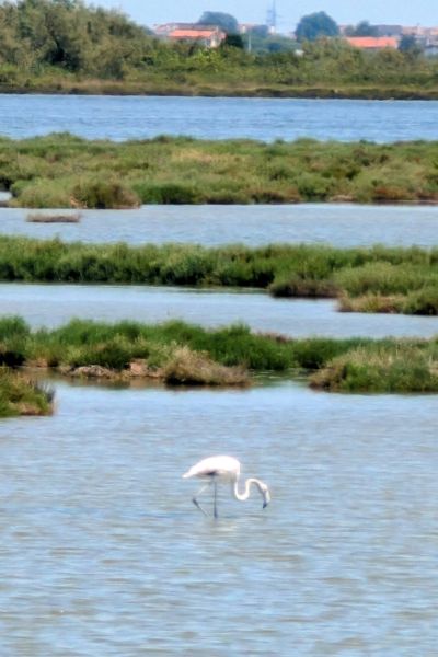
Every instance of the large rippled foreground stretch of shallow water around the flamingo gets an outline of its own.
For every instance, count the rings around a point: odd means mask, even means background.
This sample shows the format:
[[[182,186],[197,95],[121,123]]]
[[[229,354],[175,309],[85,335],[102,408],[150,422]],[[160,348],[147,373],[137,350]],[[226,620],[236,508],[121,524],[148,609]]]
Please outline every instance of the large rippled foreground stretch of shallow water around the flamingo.
[[[56,388],[0,423],[2,655],[435,654],[436,396]],[[199,514],[214,453],[272,505]]]

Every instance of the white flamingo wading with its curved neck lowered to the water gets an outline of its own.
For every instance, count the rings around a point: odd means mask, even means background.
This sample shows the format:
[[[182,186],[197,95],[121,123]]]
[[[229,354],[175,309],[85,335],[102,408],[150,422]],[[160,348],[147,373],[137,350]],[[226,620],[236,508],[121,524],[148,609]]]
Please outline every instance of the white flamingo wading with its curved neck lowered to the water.
[[[254,484],[257,486],[262,497],[263,497],[263,508],[265,508],[270,502],[270,493],[269,488],[264,482],[261,482],[257,479],[250,477],[245,481],[245,489],[243,493],[239,493],[239,477],[240,477],[240,462],[238,459],[233,457],[208,457],[207,459],[203,459],[195,465],[193,465],[185,474],[183,474],[183,479],[191,479],[192,476],[196,476],[200,480],[206,481],[196,495],[192,498],[193,504],[200,510],[205,516],[208,514],[203,509],[200,504],[197,500],[197,497],[204,493],[209,486],[215,486],[215,495],[214,495],[214,516],[218,517],[218,483],[230,483],[232,488],[232,494],[235,499],[240,502],[244,502],[250,497],[251,485]]]

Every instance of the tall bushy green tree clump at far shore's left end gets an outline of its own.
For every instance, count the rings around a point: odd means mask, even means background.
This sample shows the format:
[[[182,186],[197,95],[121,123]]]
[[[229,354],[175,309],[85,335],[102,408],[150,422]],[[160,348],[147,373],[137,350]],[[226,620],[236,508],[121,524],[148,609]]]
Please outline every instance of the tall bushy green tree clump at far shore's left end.
[[[81,0],[0,4],[0,65],[123,77],[127,64],[142,65],[151,44],[145,30],[124,14],[85,7]]]

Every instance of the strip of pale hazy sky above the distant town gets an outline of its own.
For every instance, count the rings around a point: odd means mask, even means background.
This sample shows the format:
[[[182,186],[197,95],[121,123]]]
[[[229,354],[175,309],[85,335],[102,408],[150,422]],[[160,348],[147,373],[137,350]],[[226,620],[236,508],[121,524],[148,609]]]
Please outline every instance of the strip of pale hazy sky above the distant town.
[[[171,21],[194,22],[204,11],[223,11],[240,23],[264,23],[272,0],[94,0],[90,4],[116,8],[142,25]],[[325,11],[337,23],[370,23],[402,25],[438,25],[437,0],[276,0],[277,26],[280,32],[295,28],[301,16]]]

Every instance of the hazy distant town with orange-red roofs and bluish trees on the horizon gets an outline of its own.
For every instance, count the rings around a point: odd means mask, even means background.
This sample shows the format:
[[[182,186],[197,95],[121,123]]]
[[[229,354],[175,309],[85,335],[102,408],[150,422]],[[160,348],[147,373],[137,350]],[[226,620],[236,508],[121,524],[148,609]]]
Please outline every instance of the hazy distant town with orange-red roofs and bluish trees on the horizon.
[[[263,24],[239,23],[234,16],[222,12],[204,12],[196,23],[170,22],[154,25],[153,33],[168,42],[185,42],[217,48],[227,39],[246,50],[270,51],[295,49],[300,43],[318,38],[338,38],[365,50],[384,48],[415,50],[426,56],[438,56],[438,26],[370,24],[337,24],[325,12],[303,16],[293,32],[283,34],[277,30],[275,4]]]

